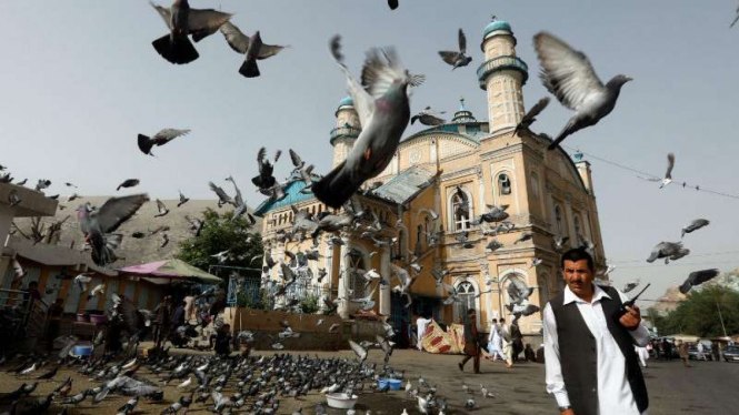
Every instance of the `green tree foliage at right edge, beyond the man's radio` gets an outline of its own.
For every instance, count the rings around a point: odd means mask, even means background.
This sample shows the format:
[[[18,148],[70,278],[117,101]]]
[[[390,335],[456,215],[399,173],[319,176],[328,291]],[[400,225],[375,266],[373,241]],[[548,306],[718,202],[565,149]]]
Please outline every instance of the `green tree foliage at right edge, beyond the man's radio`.
[[[651,316],[660,335],[683,333],[715,337],[723,336],[719,308],[726,333],[739,333],[739,292],[725,286],[707,286],[700,291],[691,291],[688,298],[671,313],[651,313]]]

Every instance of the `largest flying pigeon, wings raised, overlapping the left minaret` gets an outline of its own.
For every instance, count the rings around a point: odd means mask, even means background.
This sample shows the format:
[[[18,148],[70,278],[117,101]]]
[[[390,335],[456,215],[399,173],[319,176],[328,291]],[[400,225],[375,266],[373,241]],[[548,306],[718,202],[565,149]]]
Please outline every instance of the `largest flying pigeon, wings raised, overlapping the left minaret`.
[[[338,209],[368,179],[390,164],[410,120],[408,88],[418,87],[423,75],[412,75],[400,67],[392,49],[371,49],[362,67],[361,85],[343,63],[341,38],[331,39],[331,54],[347,78],[362,131],[344,161],[313,183],[313,194]]]

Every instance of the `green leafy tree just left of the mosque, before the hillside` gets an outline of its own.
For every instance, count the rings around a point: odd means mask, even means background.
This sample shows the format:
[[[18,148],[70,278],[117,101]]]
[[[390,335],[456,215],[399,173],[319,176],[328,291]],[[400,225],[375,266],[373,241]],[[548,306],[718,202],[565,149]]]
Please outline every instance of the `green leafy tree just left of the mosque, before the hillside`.
[[[177,257],[206,271],[210,265],[259,269],[262,263],[261,259],[254,260],[253,263],[251,260],[263,254],[261,234],[250,232],[249,220],[244,216],[232,220],[233,211],[224,213],[218,213],[212,209],[203,211],[201,220],[204,221],[204,225],[200,236],[192,236],[180,242],[180,252]],[[223,263],[211,256],[227,250],[228,254]]]

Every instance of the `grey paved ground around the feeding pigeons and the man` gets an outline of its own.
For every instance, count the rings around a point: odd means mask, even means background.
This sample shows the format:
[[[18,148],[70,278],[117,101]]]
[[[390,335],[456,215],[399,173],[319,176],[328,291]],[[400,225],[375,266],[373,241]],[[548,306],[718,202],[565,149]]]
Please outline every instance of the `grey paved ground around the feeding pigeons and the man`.
[[[180,351],[174,351],[179,353]],[[190,353],[190,352],[186,352]],[[197,353],[197,352],[196,352]],[[262,354],[256,352],[254,355]],[[304,353],[303,353],[304,354]],[[320,357],[346,356],[353,358],[348,351],[337,353],[310,352],[311,356]],[[271,355],[271,353],[270,353]],[[405,371],[406,377],[410,378],[416,386],[419,375],[438,388],[438,395],[445,397],[448,403],[447,414],[556,414],[557,408],[553,397],[545,392],[543,365],[523,363],[512,370],[507,370],[500,362],[481,362],[482,374],[471,374],[471,363],[468,362],[465,373],[460,373],[457,363],[461,356],[457,355],[431,355],[415,351],[395,351],[391,365],[399,371]],[[370,363],[381,366],[381,354],[377,351],[370,352]],[[672,414],[736,414],[739,408],[739,363],[725,362],[692,362],[693,367],[685,368],[678,361],[649,362],[650,366],[645,371],[650,395],[650,415]],[[44,370],[38,371],[31,377],[16,376],[6,373],[7,367],[0,372],[0,394],[16,389],[24,382],[32,381]],[[143,368],[140,375],[150,379],[156,376]],[[53,389],[67,376],[73,376],[73,393],[82,388],[93,387],[99,383],[90,382],[87,377],[77,374],[76,371],[64,368],[51,382],[41,382],[32,396],[42,396]],[[462,391],[462,383],[467,383],[475,392],[477,406],[472,409],[465,408],[468,395]],[[141,401],[136,414],[159,414],[163,408],[177,401],[182,391],[176,388],[178,382],[171,382],[164,389],[164,402],[148,403]],[[480,384],[496,394],[495,398],[481,398],[479,395]],[[227,391],[227,394],[232,394]],[[116,414],[117,408],[128,398],[110,395],[98,405],[90,401],[83,402],[69,414]],[[292,414],[299,407],[303,407],[303,415],[313,415],[316,403],[322,402],[323,397],[313,392],[308,397],[296,401],[281,397],[279,414]],[[7,404],[0,406],[0,412],[7,409]],[[244,407],[246,408],[246,407]],[[406,408],[410,415],[419,414],[416,403],[403,391],[390,393],[370,393],[366,388],[360,395],[357,404],[358,415],[364,415],[367,409],[372,414],[400,415]],[[54,405],[49,414],[57,414],[61,407]],[[343,415],[343,411],[328,409],[329,415]],[[209,414],[210,412],[201,404],[193,404],[188,414]],[[246,413],[246,412],[244,412]],[[436,414],[436,413],[435,413]]]

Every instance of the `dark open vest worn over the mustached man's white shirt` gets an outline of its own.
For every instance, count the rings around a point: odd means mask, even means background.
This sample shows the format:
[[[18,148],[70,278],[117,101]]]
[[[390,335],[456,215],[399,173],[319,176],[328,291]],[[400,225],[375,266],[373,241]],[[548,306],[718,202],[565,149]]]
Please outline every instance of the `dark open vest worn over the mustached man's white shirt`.
[[[633,337],[629,331],[620,325],[612,316],[621,306],[618,292],[608,286],[601,286],[609,296],[600,301],[608,331],[611,333],[621,354],[626,358],[626,376],[629,379],[631,393],[637,402],[639,412],[649,406],[647,385],[641,376],[641,368],[633,350]],[[557,337],[559,341],[559,360],[562,367],[565,387],[570,398],[572,409],[577,415],[598,414],[598,356],[596,352],[596,337],[588,328],[577,303],[567,305],[565,295],[560,294],[551,300],[551,310],[557,321]],[[620,376],[618,373],[605,376]]]

